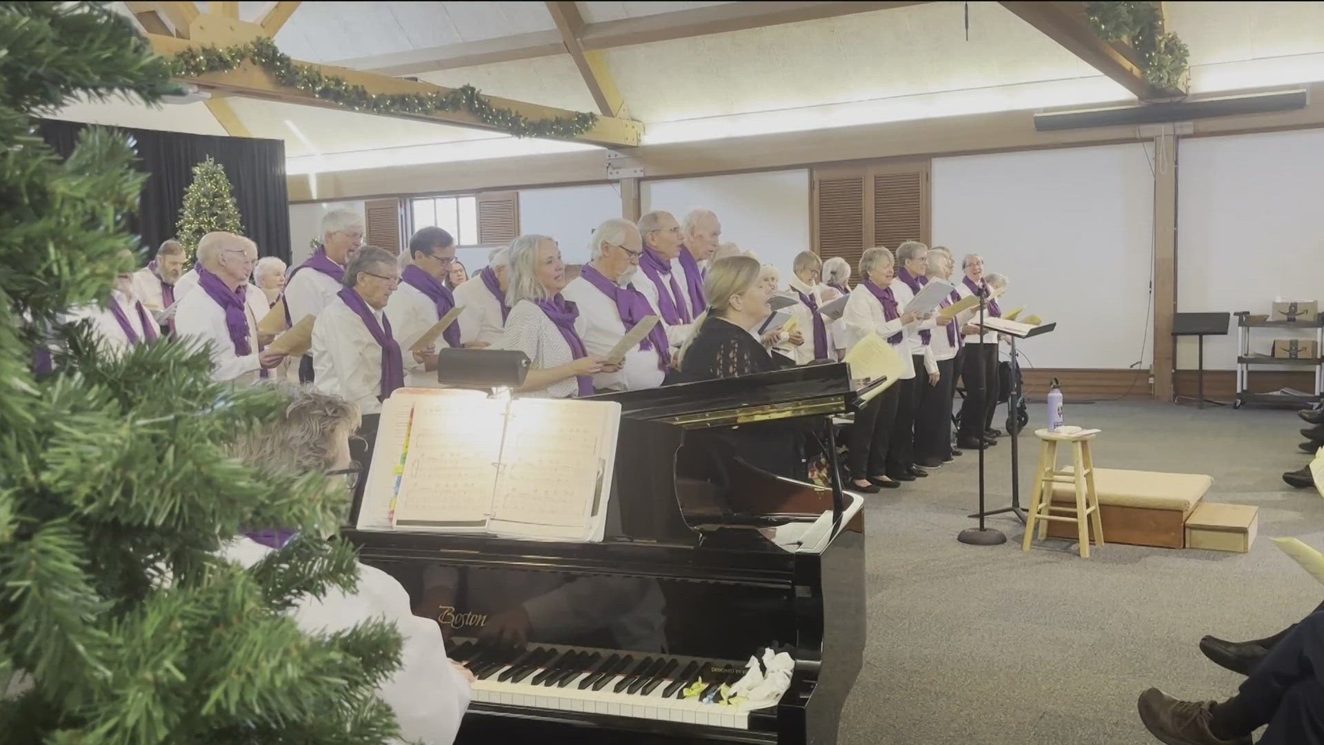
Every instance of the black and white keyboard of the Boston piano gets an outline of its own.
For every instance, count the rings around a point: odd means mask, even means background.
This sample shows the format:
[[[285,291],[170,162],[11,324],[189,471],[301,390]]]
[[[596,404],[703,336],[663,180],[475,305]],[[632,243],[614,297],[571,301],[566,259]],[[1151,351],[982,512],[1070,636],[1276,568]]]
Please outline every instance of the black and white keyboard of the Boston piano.
[[[749,728],[747,712],[712,697],[718,685],[744,676],[740,663],[563,644],[515,650],[462,638],[451,639],[450,647],[450,658],[477,679],[474,701]],[[698,699],[682,699],[699,677],[708,687]]]

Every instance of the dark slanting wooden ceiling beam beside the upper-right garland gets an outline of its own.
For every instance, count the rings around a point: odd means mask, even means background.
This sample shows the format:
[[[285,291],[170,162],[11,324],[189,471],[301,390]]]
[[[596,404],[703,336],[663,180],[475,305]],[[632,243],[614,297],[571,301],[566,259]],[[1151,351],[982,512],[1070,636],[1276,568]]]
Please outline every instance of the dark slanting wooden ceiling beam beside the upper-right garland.
[[[1145,81],[1136,50],[1129,44],[1104,41],[1090,29],[1084,3],[1004,1],[1025,23],[1039,29],[1091,68],[1117,81],[1141,99],[1184,95],[1182,90],[1156,89]]]

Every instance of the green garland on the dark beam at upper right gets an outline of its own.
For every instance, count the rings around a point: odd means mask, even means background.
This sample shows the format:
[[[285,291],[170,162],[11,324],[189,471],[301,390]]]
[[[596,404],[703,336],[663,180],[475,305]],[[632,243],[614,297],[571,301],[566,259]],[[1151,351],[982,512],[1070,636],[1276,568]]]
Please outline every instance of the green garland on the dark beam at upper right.
[[[1136,50],[1145,82],[1162,90],[1185,90],[1190,50],[1176,33],[1165,32],[1155,3],[1086,3],[1090,28],[1104,41],[1125,41]]]

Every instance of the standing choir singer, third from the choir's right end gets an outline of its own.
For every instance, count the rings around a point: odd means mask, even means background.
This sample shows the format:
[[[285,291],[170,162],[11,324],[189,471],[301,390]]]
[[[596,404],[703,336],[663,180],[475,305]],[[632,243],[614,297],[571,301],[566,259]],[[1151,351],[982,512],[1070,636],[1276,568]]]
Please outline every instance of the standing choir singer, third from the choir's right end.
[[[945,248],[928,251],[928,278],[951,282],[952,255]],[[953,289],[939,308],[960,300]],[[915,460],[925,468],[936,468],[952,460],[952,400],[956,392],[956,355],[961,347],[956,323],[933,329],[929,347],[937,362],[937,383],[924,386],[915,416]]]

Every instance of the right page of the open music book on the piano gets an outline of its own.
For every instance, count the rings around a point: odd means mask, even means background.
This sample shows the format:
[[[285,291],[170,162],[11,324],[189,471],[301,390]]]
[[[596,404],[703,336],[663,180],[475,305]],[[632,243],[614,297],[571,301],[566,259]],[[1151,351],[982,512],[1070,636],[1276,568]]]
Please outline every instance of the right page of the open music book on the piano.
[[[610,492],[604,461],[616,456],[616,402],[519,399],[507,420],[490,529],[524,537],[587,541],[605,520],[593,514]]]

